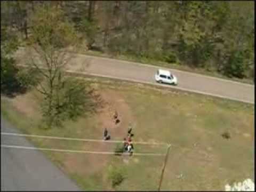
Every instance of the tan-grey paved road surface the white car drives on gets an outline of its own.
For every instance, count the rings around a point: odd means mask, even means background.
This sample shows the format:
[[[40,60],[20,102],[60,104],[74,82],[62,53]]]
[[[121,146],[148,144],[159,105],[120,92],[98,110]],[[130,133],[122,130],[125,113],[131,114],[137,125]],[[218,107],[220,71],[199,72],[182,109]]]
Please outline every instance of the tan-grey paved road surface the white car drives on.
[[[17,52],[18,57],[20,57],[23,52],[24,51],[22,50]],[[24,59],[22,60],[24,62]],[[154,80],[154,74],[158,67],[130,61],[75,54],[75,57],[69,62],[67,69],[92,75],[157,84]],[[172,86],[174,89],[254,103],[254,85],[188,73],[175,69],[169,70],[178,78],[178,86]],[[158,85],[166,86],[162,84]]]

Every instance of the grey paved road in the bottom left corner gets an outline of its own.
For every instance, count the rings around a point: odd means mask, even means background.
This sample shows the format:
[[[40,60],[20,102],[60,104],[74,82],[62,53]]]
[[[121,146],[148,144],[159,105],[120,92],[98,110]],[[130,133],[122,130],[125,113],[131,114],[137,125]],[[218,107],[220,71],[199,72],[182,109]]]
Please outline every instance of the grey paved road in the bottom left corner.
[[[1,132],[18,133],[1,117]],[[32,145],[21,137],[1,135],[1,145]],[[40,151],[1,147],[1,191],[79,191]]]

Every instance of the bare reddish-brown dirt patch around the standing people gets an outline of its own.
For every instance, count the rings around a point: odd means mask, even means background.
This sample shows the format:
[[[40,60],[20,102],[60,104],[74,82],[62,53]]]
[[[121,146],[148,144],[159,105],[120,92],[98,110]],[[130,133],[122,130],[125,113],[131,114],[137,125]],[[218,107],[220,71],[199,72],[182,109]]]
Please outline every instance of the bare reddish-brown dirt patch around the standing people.
[[[98,91],[94,89],[91,92],[94,100],[98,103],[97,118],[100,120],[102,126],[97,127],[99,132],[107,128],[111,135],[110,140],[119,140],[127,135],[129,123],[134,121],[130,107],[125,103],[125,100],[121,95],[113,90]],[[114,116],[117,114],[117,118],[120,120],[118,124],[115,124]],[[115,145],[110,145],[107,142],[97,143],[90,147],[90,150],[95,151],[109,151],[114,152]],[[88,150],[88,144],[82,147],[82,150]],[[76,172],[81,175],[89,175],[98,172],[102,167],[107,165],[110,155],[101,154],[86,154],[83,158],[77,158],[74,156],[67,156],[65,159],[65,166],[72,169],[72,172]],[[125,158],[125,157],[124,157]]]

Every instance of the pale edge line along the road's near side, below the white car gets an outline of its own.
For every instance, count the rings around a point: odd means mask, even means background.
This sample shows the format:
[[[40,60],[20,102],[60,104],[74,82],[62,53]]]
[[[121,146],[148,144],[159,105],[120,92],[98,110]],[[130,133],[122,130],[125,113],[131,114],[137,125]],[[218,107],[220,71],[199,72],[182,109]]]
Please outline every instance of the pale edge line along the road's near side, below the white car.
[[[26,65],[19,65],[22,67],[28,67]],[[40,67],[41,69],[46,69],[44,67]],[[245,102],[245,103],[250,103],[254,104],[254,101],[246,101],[243,99],[237,99],[237,98],[232,98],[232,97],[226,97],[218,94],[212,94],[212,93],[207,93],[203,91],[195,91],[195,90],[190,90],[186,88],[182,88],[179,86],[170,86],[170,85],[163,85],[163,84],[158,84],[158,83],[151,83],[151,82],[146,82],[146,81],[141,81],[141,80],[134,80],[131,78],[124,78],[124,77],[115,77],[115,76],[109,76],[109,75],[99,75],[99,74],[94,74],[94,73],[89,73],[89,72],[79,72],[79,71],[73,71],[73,70],[65,70],[66,73],[73,73],[73,74],[79,74],[79,75],[91,75],[91,76],[97,76],[97,77],[107,77],[107,78],[114,78],[114,79],[121,79],[125,81],[131,81],[131,82],[136,82],[136,83],[143,83],[143,84],[150,84],[150,85],[156,85],[156,86],[164,86],[167,87],[168,89],[178,89],[182,91],[188,91],[188,92],[193,92],[193,93],[198,93],[198,94],[204,94],[204,95],[210,95],[212,97],[218,97],[218,98],[223,98],[223,99],[229,99],[229,100],[235,100],[235,101],[240,101],[240,102]]]

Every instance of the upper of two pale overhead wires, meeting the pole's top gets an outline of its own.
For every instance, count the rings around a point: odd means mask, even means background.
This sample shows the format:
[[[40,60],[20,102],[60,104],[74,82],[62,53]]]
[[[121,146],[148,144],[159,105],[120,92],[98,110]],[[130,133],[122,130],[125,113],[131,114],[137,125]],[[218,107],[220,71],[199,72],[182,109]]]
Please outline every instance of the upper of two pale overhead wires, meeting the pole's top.
[[[115,140],[113,140],[113,141],[105,141],[105,140],[100,140],[100,139],[79,139],[79,138],[66,138],[66,137],[54,137],[54,136],[33,135],[33,134],[19,134],[19,133],[6,133],[6,132],[1,132],[1,135],[13,135],[13,136],[18,136],[18,137],[34,137],[34,138],[45,138],[45,139],[73,140],[73,141],[123,143],[123,141],[115,141]],[[133,143],[142,144],[142,145],[167,145],[167,143],[158,143],[158,142],[133,141]]]

